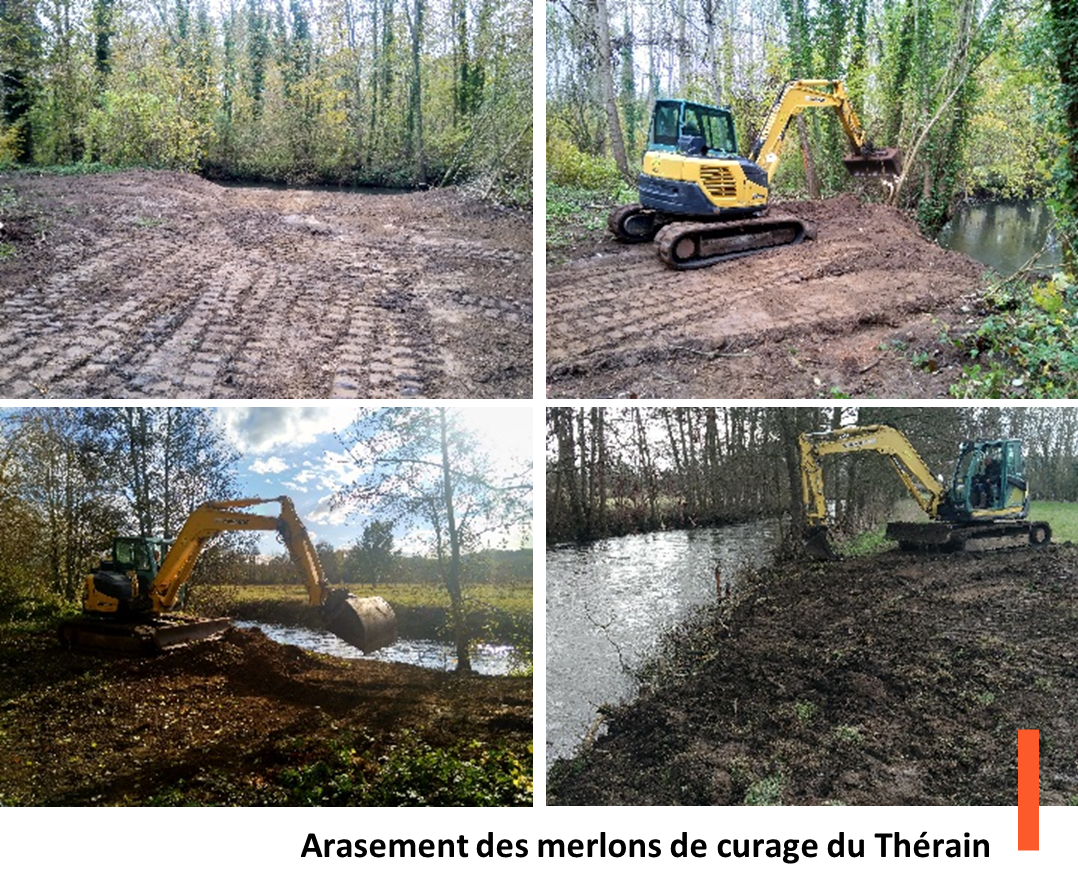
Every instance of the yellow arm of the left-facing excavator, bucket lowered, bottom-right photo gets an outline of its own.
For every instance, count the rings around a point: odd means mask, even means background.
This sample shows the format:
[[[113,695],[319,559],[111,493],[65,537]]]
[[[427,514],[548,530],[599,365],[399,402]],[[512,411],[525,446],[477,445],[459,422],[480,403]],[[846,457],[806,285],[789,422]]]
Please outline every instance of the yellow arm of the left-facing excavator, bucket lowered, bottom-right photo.
[[[946,492],[910,440],[890,426],[852,426],[801,436],[801,488],[807,520],[805,549],[810,555],[830,559],[827,541],[827,498],[821,459],[831,454],[872,451],[895,467],[902,484],[930,519],[938,519]]]

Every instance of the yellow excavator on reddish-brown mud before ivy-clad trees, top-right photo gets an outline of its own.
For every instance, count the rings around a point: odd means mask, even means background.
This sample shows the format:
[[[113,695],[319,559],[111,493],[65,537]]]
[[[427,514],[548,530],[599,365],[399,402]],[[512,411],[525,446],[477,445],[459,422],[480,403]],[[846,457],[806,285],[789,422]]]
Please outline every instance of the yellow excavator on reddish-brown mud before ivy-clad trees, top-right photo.
[[[834,109],[849,139],[843,164],[851,174],[901,174],[901,152],[875,149],[866,139],[842,81],[787,83],[747,157],[737,154],[729,109],[660,99],[637,178],[640,201],[611,211],[610,231],[625,243],[654,239],[659,257],[676,271],[815,238],[811,224],[766,210],[790,123],[805,109],[826,108]]]

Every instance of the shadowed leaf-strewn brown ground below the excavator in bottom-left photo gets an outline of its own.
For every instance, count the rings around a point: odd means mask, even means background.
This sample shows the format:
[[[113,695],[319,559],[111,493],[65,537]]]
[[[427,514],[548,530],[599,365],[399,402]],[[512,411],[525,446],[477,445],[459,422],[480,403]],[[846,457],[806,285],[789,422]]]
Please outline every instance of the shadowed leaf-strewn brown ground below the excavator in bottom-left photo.
[[[258,630],[136,658],[8,628],[0,804],[419,803],[448,788],[424,779],[429,749],[529,763],[531,712],[530,678],[331,659]],[[395,789],[401,749],[419,767]]]

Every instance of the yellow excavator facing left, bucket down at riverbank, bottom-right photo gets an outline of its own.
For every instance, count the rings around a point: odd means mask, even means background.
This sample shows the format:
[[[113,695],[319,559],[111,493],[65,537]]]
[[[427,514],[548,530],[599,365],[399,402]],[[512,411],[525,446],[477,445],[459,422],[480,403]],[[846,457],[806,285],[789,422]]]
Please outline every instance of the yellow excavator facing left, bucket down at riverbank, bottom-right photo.
[[[1017,439],[965,441],[949,484],[937,479],[910,440],[890,426],[851,426],[801,436],[801,483],[806,513],[805,551],[834,559],[827,527],[821,462],[832,454],[871,451],[886,456],[902,484],[931,519],[893,522],[887,537],[903,550],[996,550],[1052,539],[1047,522],[1029,522],[1029,483]]]

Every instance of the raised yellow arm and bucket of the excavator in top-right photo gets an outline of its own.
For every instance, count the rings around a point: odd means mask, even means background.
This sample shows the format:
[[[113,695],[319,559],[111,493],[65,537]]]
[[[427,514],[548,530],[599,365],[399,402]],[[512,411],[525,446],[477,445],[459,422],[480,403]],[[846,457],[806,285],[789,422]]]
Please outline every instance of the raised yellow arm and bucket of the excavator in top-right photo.
[[[843,159],[846,169],[858,176],[886,175],[897,177],[902,171],[902,154],[897,149],[874,149],[849,104],[842,81],[789,81],[768,113],[763,129],[749,153],[749,160],[768,173],[769,182],[775,176],[787,128],[805,109],[833,108],[842,129],[849,139],[851,154]]]

